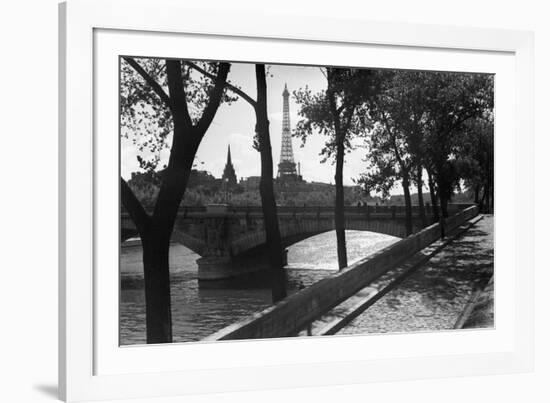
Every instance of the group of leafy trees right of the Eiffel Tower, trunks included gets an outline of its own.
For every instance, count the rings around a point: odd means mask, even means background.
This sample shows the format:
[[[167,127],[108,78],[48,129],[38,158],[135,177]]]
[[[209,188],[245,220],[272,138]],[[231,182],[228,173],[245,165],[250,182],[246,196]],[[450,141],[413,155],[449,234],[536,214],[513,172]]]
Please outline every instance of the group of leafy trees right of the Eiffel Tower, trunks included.
[[[347,266],[343,167],[355,137],[364,139],[366,171],[358,178],[367,192],[389,196],[401,183],[406,232],[412,233],[411,185],[420,218],[424,172],[434,221],[461,185],[472,189],[486,210],[493,203],[493,76],[488,74],[321,68],[327,89],[294,92],[301,120],[295,135],[327,136],[321,154],[335,160],[335,224],[340,269]],[[480,189],[483,198],[479,199]],[[441,213],[440,213],[441,210]],[[443,228],[443,227],[442,227]]]

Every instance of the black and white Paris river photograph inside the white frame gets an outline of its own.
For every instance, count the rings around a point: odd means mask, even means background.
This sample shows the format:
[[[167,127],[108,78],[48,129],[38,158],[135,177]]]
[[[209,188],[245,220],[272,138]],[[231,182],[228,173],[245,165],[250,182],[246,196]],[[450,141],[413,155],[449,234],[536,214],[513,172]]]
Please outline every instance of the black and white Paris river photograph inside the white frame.
[[[121,345],[493,327],[492,74],[119,66]]]

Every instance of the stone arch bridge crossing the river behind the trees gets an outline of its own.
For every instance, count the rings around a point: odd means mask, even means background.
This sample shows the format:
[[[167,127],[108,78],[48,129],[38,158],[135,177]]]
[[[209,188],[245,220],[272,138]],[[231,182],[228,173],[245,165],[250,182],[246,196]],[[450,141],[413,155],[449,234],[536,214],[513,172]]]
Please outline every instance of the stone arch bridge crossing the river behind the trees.
[[[465,205],[450,205],[454,214]],[[278,207],[279,228],[285,248],[311,236],[334,229],[333,207]],[[429,206],[427,217],[431,217]],[[345,208],[346,229],[371,231],[399,238],[406,236],[404,206]],[[431,221],[428,218],[428,224]],[[413,232],[423,228],[418,206],[413,206]],[[121,214],[121,240],[137,236],[126,212]],[[199,280],[237,277],[264,269],[266,237],[261,207],[208,205],[182,207],[172,241],[201,256]]]

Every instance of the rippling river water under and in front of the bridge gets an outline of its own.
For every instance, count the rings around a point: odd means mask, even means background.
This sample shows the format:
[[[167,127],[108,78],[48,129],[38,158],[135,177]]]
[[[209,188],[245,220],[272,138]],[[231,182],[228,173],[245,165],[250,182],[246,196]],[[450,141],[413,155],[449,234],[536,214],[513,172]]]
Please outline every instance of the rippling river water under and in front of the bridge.
[[[351,264],[398,238],[363,231],[346,231]],[[173,341],[197,341],[271,304],[271,291],[260,285],[199,288],[199,256],[179,244],[170,250]],[[145,343],[145,300],[142,251],[127,246],[121,253],[121,344]],[[326,232],[288,248],[287,289],[311,285],[337,270],[336,234]]]

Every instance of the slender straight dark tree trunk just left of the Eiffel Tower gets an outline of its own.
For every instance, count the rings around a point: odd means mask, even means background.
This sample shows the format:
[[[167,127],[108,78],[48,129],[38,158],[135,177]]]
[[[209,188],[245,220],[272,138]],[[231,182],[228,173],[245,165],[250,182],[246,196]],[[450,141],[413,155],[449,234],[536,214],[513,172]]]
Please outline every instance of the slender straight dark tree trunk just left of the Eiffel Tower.
[[[282,247],[277,204],[273,191],[273,156],[269,136],[269,120],[267,116],[267,88],[265,81],[265,65],[256,65],[256,83],[258,98],[256,102],[256,130],[261,156],[260,197],[269,253],[271,272],[271,295],[273,302],[286,297],[286,273],[284,269],[284,250]]]

